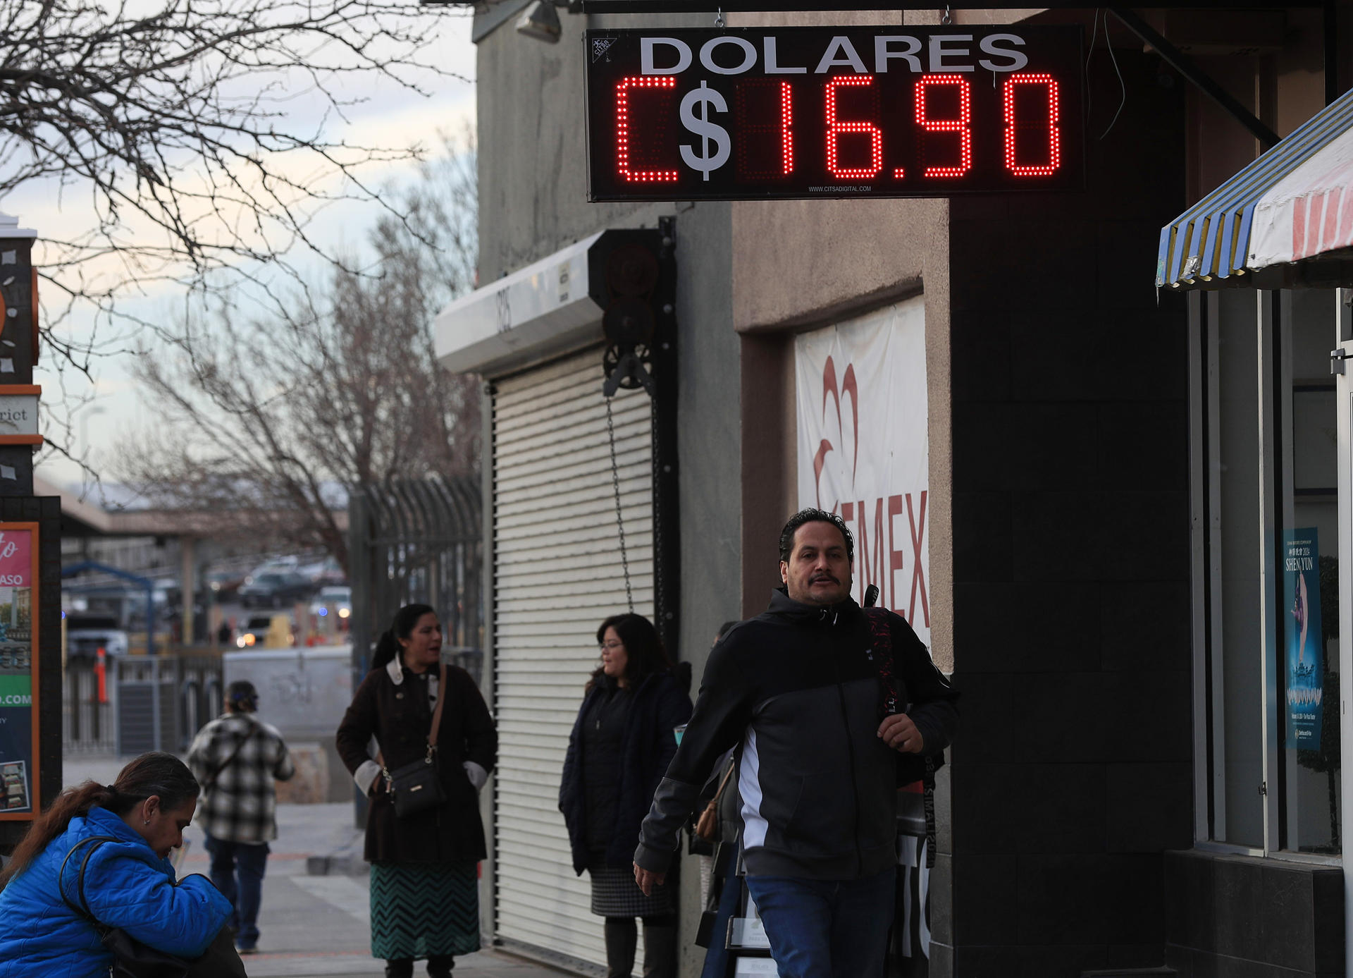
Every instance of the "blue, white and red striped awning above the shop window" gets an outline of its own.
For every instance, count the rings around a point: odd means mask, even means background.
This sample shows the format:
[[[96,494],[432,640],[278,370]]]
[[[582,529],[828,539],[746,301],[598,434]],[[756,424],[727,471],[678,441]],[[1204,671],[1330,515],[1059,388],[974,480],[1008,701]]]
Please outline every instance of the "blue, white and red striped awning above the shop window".
[[[1353,245],[1350,130],[1353,89],[1161,228],[1155,286],[1241,284],[1238,276]]]

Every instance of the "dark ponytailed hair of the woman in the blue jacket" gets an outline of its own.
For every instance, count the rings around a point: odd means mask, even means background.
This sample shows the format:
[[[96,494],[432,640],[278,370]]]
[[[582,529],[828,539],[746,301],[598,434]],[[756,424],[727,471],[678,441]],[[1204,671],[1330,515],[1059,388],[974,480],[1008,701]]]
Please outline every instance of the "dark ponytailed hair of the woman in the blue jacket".
[[[158,796],[160,810],[173,811],[195,799],[200,790],[188,765],[162,750],[141,754],[129,763],[112,784],[81,782],[66,788],[28,828],[28,834],[0,872],[0,887],[23,872],[51,840],[70,826],[72,818],[88,815],[91,809],[108,809],[115,815],[124,815],[147,798]]]

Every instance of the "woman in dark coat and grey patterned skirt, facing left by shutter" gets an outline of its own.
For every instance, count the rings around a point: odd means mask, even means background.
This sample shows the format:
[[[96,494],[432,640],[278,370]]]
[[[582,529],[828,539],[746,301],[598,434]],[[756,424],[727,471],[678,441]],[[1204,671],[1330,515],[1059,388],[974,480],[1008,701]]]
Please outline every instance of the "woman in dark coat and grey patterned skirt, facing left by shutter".
[[[629,978],[644,920],[644,975],[676,974],[671,886],[645,897],[635,883],[639,826],[676,753],[674,727],[690,698],[671,675],[662,639],[641,615],[613,615],[597,630],[601,668],[583,694],[568,738],[559,810],[574,871],[591,878],[591,912],[606,918],[606,978]]]

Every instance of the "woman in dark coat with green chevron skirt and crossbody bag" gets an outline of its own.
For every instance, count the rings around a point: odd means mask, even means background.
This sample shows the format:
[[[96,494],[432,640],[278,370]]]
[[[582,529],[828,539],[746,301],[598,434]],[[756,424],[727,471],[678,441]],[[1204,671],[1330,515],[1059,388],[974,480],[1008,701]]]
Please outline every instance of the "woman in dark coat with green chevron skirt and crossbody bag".
[[[410,978],[419,958],[432,978],[449,978],[455,955],[479,950],[476,864],[486,853],[479,788],[494,767],[498,734],[469,673],[453,665],[442,673],[440,664],[437,612],[405,605],[338,726],[338,754],[371,798],[371,952],[386,959],[388,978]],[[438,699],[445,702],[436,759],[446,801],[396,815],[386,772],[428,756]],[[384,767],[367,753],[372,737]]]

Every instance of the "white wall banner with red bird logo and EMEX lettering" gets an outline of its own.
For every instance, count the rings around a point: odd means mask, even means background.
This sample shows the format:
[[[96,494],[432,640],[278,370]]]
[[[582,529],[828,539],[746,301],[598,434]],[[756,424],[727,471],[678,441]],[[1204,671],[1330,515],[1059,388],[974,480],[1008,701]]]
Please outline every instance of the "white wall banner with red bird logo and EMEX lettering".
[[[916,297],[794,340],[798,504],[855,535],[854,596],[930,645],[925,301]]]

